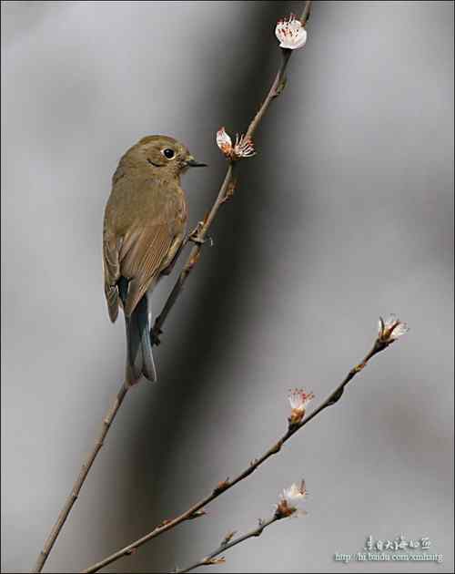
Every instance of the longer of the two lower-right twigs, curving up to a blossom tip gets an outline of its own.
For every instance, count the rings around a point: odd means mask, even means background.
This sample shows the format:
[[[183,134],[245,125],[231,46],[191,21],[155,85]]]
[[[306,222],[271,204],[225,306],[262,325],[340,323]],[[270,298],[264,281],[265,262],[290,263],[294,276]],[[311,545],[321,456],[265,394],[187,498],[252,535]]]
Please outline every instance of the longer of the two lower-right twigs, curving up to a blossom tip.
[[[114,554],[111,554],[106,559],[103,559],[100,562],[96,562],[96,564],[83,570],[83,572],[85,574],[88,574],[89,572],[97,572],[99,569],[104,568],[108,564],[112,564],[112,562],[115,562],[116,560],[121,559],[124,556],[132,554],[134,551],[136,551],[136,548],[139,548],[143,544],[146,544],[146,542],[148,542],[149,540],[157,538],[164,532],[167,532],[167,530],[175,528],[182,522],[192,518],[195,515],[195,513],[199,512],[202,508],[207,507],[208,504],[210,504],[217,497],[221,496],[224,492],[227,492],[227,490],[234,487],[245,478],[249,477],[259,466],[265,463],[266,460],[270,458],[270,456],[277,455],[278,452],[281,450],[281,447],[286,442],[288,442],[289,438],[295,435],[298,432],[298,430],[300,430],[303,426],[307,425],[309,421],[313,420],[317,415],[319,415],[319,413],[325,410],[328,406],[335,405],[341,398],[341,395],[343,395],[345,386],[349,384],[349,381],[351,381],[356,376],[356,374],[359,374],[360,371],[362,371],[365,368],[365,366],[369,363],[369,360],[375,354],[380,353],[388,346],[389,346],[388,343],[383,343],[382,341],[377,339],[372,349],[365,356],[363,361],[361,361],[361,363],[359,363],[357,366],[355,366],[349,371],[349,373],[346,375],[343,381],[329,395],[329,397],[323,403],[321,403],[321,405],[318,406],[318,408],[316,408],[310,415],[306,416],[301,421],[301,423],[295,425],[288,425],[288,431],[283,436],[281,436],[281,438],[273,446],[270,446],[270,448],[268,448],[268,450],[262,456],[259,456],[259,458],[255,458],[252,462],[250,462],[247,468],[245,468],[237,477],[235,477],[232,480],[229,480],[227,478],[226,480],[218,483],[217,487],[215,487],[214,490],[209,495],[207,495],[207,497],[204,497],[201,500],[199,500],[199,502],[194,504],[192,507],[189,507],[185,512],[183,512],[176,518],[166,520],[164,523],[158,525],[157,528],[154,528],[151,532],[148,532],[148,534],[146,534],[142,538],[138,538],[134,542],[128,544],[125,548],[117,550],[116,552],[114,552]]]

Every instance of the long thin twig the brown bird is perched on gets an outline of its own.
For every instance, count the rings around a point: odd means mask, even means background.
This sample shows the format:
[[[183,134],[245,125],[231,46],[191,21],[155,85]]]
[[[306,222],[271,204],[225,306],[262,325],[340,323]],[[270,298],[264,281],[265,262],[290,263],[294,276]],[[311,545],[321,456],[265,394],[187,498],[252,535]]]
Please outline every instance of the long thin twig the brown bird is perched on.
[[[301,22],[304,26],[308,21],[310,9],[311,9],[311,4],[312,4],[311,1],[308,1],[305,3],[305,7],[304,7],[304,10],[303,10],[303,13],[301,16]],[[253,134],[256,132],[256,129],[258,128],[258,125],[259,125],[261,119],[264,117],[265,113],[267,112],[268,107],[270,106],[271,102],[280,93],[279,88],[282,85],[282,82],[284,80],[286,68],[288,67],[288,61],[289,61],[290,56],[292,55],[292,51],[291,50],[281,50],[281,53],[282,53],[281,66],[278,69],[277,76],[275,77],[275,80],[272,84],[272,87],[270,87],[270,89],[268,91],[268,95],[267,95],[266,99],[264,100],[263,104],[261,105],[261,107],[258,110],[257,115],[255,116],[255,118],[253,118],[253,120],[251,121],[251,123],[248,127],[248,132],[247,132],[248,138],[251,138],[253,136]],[[200,228],[197,232],[197,238],[196,238],[197,241],[195,241],[195,244],[189,253],[187,262],[185,263],[182,271],[180,272],[178,279],[177,279],[177,282],[175,283],[172,291],[170,292],[170,294],[167,298],[167,302],[165,303],[162,312],[157,316],[157,319],[154,323],[154,326],[153,326],[152,330],[150,331],[152,344],[159,344],[160,343],[159,335],[162,333],[162,327],[163,327],[164,323],[166,322],[167,316],[170,313],[172,307],[177,302],[177,298],[178,298],[179,294],[182,292],[183,287],[185,285],[185,282],[187,282],[187,278],[188,278],[189,274],[193,271],[195,265],[197,264],[197,261],[198,261],[199,256],[200,256],[200,251],[202,249],[202,244],[207,238],[207,232],[208,232],[211,224],[215,220],[219,208],[221,207],[221,205],[223,205],[223,203],[226,202],[226,200],[229,198],[229,195],[232,193],[232,191],[231,191],[232,186],[235,185],[234,172],[237,169],[237,165],[238,165],[238,162],[229,161],[229,165],[227,167],[227,173],[226,173],[225,179],[223,180],[221,188],[218,192],[217,199],[215,200],[215,203],[213,204],[211,210],[208,212],[205,220],[202,222],[202,225],[200,226]],[[48,538],[45,541],[45,546],[44,546],[43,550],[40,552],[40,554],[36,560],[35,568],[33,569],[34,573],[39,573],[43,569],[43,567],[45,565],[45,561],[48,558],[49,553],[51,552],[51,550],[52,550],[52,548],[56,542],[56,538],[58,537],[61,529],[63,528],[63,526],[66,522],[66,518],[68,517],[68,515],[71,511],[71,508],[73,507],[73,505],[76,501],[77,495],[78,495],[81,487],[84,485],[84,482],[86,480],[86,477],[88,475],[90,467],[93,465],[93,463],[95,461],[96,455],[99,452],[99,449],[103,444],[103,440],[105,439],[106,434],[110,428],[110,425],[116,416],[116,412],[117,412],[118,408],[120,407],[120,405],[123,402],[123,399],[125,398],[127,390],[128,390],[128,387],[125,384],[122,384],[122,386],[120,387],[120,389],[116,395],[116,403],[115,403],[114,409],[109,409],[109,411],[108,411],[108,413],[104,419],[103,430],[102,430],[102,433],[100,435],[100,438],[98,439],[98,441],[96,441],[96,445],[95,445],[93,451],[87,457],[87,461],[86,461],[85,465],[82,466],[81,473],[80,473],[79,477],[77,477],[77,479],[76,479],[76,483],[75,483],[75,485],[71,491],[71,494],[66,499],[65,506],[60,511],[60,514],[58,515],[56,523],[55,523],[54,527],[52,528]],[[108,421],[107,425],[106,425],[106,421]],[[98,446],[98,443],[100,443],[99,446]]]

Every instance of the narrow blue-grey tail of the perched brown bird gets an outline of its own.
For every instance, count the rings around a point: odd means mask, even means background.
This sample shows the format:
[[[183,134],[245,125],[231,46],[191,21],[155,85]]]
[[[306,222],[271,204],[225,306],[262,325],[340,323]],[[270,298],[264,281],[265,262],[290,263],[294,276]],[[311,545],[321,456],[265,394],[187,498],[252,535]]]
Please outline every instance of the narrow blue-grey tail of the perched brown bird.
[[[118,287],[120,298],[123,301],[124,297],[122,295],[126,295],[124,285],[119,282]],[[125,317],[125,325],[126,384],[137,383],[142,374],[152,383],[155,382],[157,380],[157,370],[153,360],[152,343],[150,341],[150,313],[147,293],[137,303],[133,313],[129,317]]]

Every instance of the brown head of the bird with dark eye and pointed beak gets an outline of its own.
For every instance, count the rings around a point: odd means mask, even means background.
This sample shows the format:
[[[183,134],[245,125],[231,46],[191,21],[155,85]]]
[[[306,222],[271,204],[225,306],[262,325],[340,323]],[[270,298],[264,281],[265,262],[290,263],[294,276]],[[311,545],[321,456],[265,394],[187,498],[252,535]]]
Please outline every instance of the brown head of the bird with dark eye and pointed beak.
[[[199,163],[177,139],[167,136],[147,136],[129,149],[126,154],[142,167],[154,169],[165,175],[178,177],[188,168],[204,167],[207,164]]]

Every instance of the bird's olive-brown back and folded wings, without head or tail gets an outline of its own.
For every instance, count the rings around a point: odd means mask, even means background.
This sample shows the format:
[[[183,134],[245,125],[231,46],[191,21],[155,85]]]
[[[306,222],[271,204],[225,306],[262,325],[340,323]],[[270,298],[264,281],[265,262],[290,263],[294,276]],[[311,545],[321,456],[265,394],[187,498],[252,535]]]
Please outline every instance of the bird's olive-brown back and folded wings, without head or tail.
[[[163,181],[120,177],[105,211],[105,291],[115,321],[120,297],[117,282],[128,280],[124,313],[130,316],[172,255],[185,228],[185,202]]]

